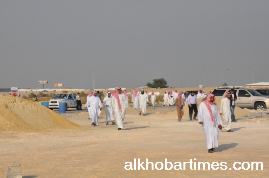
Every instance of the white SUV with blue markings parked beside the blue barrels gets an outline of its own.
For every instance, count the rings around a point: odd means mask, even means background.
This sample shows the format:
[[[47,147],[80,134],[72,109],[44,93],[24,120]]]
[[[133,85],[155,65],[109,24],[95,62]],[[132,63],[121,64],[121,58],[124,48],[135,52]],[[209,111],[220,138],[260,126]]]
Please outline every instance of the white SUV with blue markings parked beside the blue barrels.
[[[66,110],[67,108],[75,108],[77,106],[76,96],[76,93],[58,93],[52,99],[49,99],[48,108],[51,110],[59,109],[60,102],[66,103]]]

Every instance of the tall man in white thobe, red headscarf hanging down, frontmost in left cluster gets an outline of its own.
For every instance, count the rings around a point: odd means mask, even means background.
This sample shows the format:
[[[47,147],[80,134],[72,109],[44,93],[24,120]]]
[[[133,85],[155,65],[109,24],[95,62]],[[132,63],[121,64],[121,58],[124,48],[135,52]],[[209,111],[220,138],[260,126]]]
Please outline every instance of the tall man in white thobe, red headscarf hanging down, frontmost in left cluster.
[[[118,87],[112,96],[112,106],[116,117],[118,130],[123,128],[123,120],[125,118],[126,97]]]

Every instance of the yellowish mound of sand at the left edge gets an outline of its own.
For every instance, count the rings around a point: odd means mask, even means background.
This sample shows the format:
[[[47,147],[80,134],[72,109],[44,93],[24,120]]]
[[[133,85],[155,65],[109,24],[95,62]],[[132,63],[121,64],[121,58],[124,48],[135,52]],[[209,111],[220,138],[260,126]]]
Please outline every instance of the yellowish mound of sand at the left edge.
[[[70,129],[80,126],[38,102],[0,95],[0,130]]]

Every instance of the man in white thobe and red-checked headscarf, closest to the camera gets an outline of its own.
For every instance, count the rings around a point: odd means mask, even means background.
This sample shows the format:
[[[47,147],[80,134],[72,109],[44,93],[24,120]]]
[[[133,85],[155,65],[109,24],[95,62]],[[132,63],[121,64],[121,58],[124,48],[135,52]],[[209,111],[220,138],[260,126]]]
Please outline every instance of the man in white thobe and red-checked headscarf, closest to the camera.
[[[218,147],[219,129],[222,129],[222,119],[219,113],[215,96],[208,94],[207,99],[201,102],[198,112],[199,123],[206,139],[208,153],[213,153]]]

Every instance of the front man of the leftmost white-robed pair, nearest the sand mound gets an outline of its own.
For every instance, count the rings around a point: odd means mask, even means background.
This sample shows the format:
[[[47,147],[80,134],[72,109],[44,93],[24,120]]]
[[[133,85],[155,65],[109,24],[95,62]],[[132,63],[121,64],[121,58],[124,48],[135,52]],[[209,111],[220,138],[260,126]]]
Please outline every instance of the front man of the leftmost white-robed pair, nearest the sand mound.
[[[90,116],[92,125],[98,125],[98,116],[101,114],[102,103],[99,97],[96,96],[97,92],[93,92],[93,96],[89,98],[89,102],[86,103],[88,110],[90,110]]]

